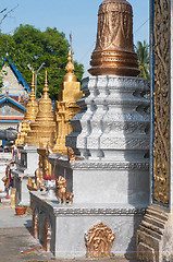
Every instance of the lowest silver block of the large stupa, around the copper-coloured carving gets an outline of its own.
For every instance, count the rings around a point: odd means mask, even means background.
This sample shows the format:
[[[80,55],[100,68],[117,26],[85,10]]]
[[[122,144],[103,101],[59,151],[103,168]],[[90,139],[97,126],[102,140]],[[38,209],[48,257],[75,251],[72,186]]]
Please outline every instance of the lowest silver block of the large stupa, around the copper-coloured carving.
[[[102,223],[115,235],[113,255],[135,254],[136,229],[145,209],[118,204],[58,204],[46,199],[46,193],[30,192],[33,203],[33,233],[45,250],[57,258],[86,257],[85,236],[95,225]]]

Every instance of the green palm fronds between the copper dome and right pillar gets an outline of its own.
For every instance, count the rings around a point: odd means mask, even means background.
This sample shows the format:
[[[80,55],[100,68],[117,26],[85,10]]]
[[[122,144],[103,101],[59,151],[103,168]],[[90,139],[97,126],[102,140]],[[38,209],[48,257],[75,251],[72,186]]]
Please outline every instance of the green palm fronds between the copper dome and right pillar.
[[[144,40],[137,41],[136,52],[138,57],[140,74],[138,78],[146,79],[148,84],[150,82],[150,72],[149,72],[149,45]]]

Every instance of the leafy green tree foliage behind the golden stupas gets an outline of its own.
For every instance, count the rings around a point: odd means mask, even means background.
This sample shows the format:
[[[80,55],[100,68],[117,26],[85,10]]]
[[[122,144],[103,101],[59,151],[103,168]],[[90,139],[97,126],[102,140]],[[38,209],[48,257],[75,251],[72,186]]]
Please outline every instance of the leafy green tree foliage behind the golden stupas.
[[[20,25],[14,35],[0,34],[0,60],[4,57],[15,64],[25,81],[30,85],[33,68],[36,72],[45,63],[44,70],[37,76],[37,97],[40,97],[44,88],[45,70],[48,71],[50,97],[58,98],[58,93],[65,75],[67,51],[70,44],[64,33],[48,27],[45,32],[32,25]],[[82,81],[84,67],[74,62],[75,74]]]

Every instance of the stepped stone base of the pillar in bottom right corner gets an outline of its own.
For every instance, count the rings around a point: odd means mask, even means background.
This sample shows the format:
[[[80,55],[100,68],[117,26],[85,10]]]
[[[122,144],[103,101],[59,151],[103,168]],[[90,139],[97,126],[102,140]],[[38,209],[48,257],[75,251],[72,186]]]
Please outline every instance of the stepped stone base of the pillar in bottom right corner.
[[[173,261],[173,214],[151,205],[137,230],[137,258],[144,262]]]

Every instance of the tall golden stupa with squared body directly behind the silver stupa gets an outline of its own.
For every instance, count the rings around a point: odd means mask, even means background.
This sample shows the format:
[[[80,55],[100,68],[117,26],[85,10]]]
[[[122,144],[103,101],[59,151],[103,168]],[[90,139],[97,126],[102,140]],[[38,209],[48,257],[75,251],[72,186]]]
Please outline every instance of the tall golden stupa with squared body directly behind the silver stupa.
[[[54,110],[57,115],[57,141],[53,152],[67,154],[65,146],[65,136],[72,132],[71,119],[79,112],[81,108],[76,100],[83,97],[81,91],[81,83],[74,74],[74,64],[72,63],[72,51],[69,50],[66,64],[66,74],[59,93],[59,100],[54,103]]]

